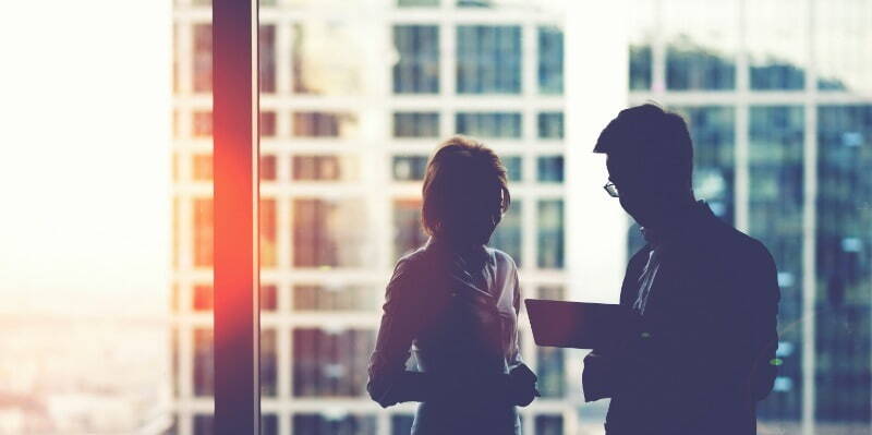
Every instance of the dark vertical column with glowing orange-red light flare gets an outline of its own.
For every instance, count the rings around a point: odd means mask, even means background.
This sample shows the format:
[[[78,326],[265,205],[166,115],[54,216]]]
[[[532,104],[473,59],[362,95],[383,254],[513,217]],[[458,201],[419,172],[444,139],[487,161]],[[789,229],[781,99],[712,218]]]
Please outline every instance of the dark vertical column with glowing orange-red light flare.
[[[215,433],[259,433],[257,1],[213,1]]]

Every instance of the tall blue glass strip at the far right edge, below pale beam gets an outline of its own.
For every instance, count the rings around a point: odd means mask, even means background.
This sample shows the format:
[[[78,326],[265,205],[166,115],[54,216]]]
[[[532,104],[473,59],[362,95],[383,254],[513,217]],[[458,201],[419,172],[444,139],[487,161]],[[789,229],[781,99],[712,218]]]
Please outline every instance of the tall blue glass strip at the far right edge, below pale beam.
[[[872,105],[820,106],[818,122],[816,416],[869,424],[872,337],[851,325],[870,325]]]

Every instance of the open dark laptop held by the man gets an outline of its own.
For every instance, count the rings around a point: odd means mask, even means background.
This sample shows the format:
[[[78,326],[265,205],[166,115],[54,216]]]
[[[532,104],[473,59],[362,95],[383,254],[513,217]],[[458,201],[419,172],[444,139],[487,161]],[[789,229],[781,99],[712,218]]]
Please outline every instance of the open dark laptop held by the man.
[[[594,349],[614,345],[634,330],[635,316],[621,305],[526,299],[537,346]]]

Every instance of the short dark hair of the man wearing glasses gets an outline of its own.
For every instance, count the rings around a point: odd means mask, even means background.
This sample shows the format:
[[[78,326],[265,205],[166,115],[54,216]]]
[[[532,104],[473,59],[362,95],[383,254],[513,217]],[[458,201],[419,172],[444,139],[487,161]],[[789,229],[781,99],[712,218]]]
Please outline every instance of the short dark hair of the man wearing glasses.
[[[690,183],[693,145],[685,119],[654,104],[623,109],[603,129],[594,153],[634,157],[647,171]]]

